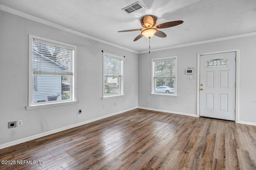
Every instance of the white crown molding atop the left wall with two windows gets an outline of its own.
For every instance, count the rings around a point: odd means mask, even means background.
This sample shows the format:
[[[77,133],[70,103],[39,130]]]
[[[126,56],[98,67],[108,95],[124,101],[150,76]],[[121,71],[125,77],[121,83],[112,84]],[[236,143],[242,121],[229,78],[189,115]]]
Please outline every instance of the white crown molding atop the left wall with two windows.
[[[106,44],[106,45],[111,45],[111,46],[113,46],[113,47],[117,47],[117,48],[119,48],[119,49],[124,49],[124,50],[126,50],[126,51],[130,51],[130,52],[132,52],[132,53],[138,54],[138,51],[135,51],[135,50],[132,50],[132,49],[128,49],[128,48],[126,48],[126,47],[122,47],[122,46],[120,46],[120,45],[116,45],[116,44],[114,44],[114,43],[110,43],[110,42],[108,42],[108,41],[105,41],[105,40],[102,40],[102,39],[98,39],[98,38],[96,38],[96,37],[92,37],[92,36],[87,35],[87,34],[85,34],[85,33],[81,33],[81,32],[79,32],[79,31],[75,31],[75,30],[73,30],[73,29],[64,27],[64,26],[62,26],[62,25],[58,25],[58,24],[53,23],[53,22],[50,22],[50,21],[46,21],[46,20],[44,20],[44,19],[41,19],[41,18],[32,16],[32,15],[30,15],[30,14],[26,14],[26,13],[24,13],[24,12],[15,10],[15,9],[13,9],[13,8],[10,8],[10,7],[1,5],[1,4],[0,4],[0,10],[5,11],[5,12],[9,12],[9,13],[11,13],[11,14],[14,14],[14,15],[17,15],[17,16],[20,16],[20,17],[23,17],[23,18],[27,18],[27,19],[32,20],[32,21],[36,21],[36,22],[39,22],[39,23],[48,25],[48,26],[50,26],[50,27],[54,27],[54,28],[57,28],[57,29],[60,29],[60,30],[63,30],[63,31],[67,31],[67,32],[69,32],[69,33],[73,33],[73,34],[79,35],[79,36],[81,36],[81,37],[85,37],[85,38],[88,38],[88,39],[91,39],[91,40],[94,40],[94,41],[98,41],[98,42],[104,43],[104,44]]]

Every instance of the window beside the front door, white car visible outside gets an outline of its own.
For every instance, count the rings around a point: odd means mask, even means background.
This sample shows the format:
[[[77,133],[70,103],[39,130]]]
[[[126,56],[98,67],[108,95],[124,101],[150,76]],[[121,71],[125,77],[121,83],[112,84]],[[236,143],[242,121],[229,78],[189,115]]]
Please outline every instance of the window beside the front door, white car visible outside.
[[[152,59],[152,94],[177,96],[177,57]]]

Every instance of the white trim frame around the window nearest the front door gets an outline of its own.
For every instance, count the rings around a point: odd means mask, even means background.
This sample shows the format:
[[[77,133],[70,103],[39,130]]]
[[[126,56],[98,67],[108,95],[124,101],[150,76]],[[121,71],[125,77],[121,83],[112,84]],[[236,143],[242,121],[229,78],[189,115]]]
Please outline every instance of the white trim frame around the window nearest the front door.
[[[166,94],[166,93],[156,93],[155,92],[155,82],[154,82],[154,62],[159,61],[159,60],[166,60],[166,59],[173,59],[175,58],[176,63],[175,63],[175,93],[174,94]],[[178,56],[172,56],[172,57],[162,57],[162,58],[155,58],[151,59],[151,93],[150,95],[152,96],[167,96],[167,97],[178,97]]]

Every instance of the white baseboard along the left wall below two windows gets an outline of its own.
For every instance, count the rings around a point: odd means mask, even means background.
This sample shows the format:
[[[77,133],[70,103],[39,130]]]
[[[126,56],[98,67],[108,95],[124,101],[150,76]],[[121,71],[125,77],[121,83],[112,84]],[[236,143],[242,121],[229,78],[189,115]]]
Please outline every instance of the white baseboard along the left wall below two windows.
[[[97,120],[100,120],[100,119],[104,119],[106,117],[110,117],[110,116],[113,116],[113,115],[118,115],[120,113],[124,113],[126,111],[130,111],[130,110],[137,109],[137,108],[138,107],[133,107],[133,108],[130,108],[130,109],[126,109],[126,110],[118,111],[118,112],[111,113],[111,114],[108,114],[108,115],[104,115],[104,116],[101,116],[101,117],[97,117],[95,119],[90,119],[90,120],[79,122],[79,123],[76,123],[76,124],[73,124],[73,125],[61,127],[61,128],[58,128],[58,129],[54,129],[52,131],[47,131],[47,132],[40,133],[40,134],[37,134],[37,135],[33,135],[33,136],[30,136],[30,137],[25,137],[25,138],[22,138],[22,139],[18,139],[16,141],[4,143],[4,144],[0,145],[0,149],[11,147],[11,146],[14,146],[14,145],[17,145],[17,144],[20,144],[20,143],[24,143],[24,142],[27,142],[27,141],[31,141],[31,140],[34,140],[34,139],[38,139],[40,137],[44,137],[44,136],[47,136],[47,135],[58,133],[60,131],[65,131],[67,129],[71,129],[71,128],[78,127],[78,126],[81,126],[81,125],[85,125],[87,123],[91,123],[91,122],[94,122],[94,121],[97,121]]]

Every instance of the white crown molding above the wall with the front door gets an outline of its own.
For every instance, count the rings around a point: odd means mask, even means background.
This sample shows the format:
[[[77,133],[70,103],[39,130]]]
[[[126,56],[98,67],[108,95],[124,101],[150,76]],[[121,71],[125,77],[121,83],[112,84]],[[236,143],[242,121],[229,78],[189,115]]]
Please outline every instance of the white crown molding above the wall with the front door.
[[[210,40],[206,40],[206,41],[198,41],[198,42],[194,42],[194,43],[187,43],[187,44],[181,44],[181,45],[174,45],[174,46],[170,46],[170,47],[164,47],[164,48],[159,48],[159,49],[150,49],[150,52],[153,51],[162,51],[162,50],[168,50],[168,49],[175,49],[175,48],[180,48],[180,47],[188,47],[188,46],[192,46],[192,45],[199,45],[199,44],[205,44],[205,43],[212,43],[212,42],[217,42],[217,41],[224,41],[224,40],[229,40],[229,39],[236,39],[236,38],[243,38],[243,37],[249,37],[249,36],[254,36],[256,35],[256,32],[252,32],[252,33],[245,33],[245,34],[240,34],[240,35],[233,35],[230,37],[223,37],[223,38],[216,38],[216,39],[210,39]],[[139,51],[139,54],[142,53],[148,53],[148,50],[146,51]]]

